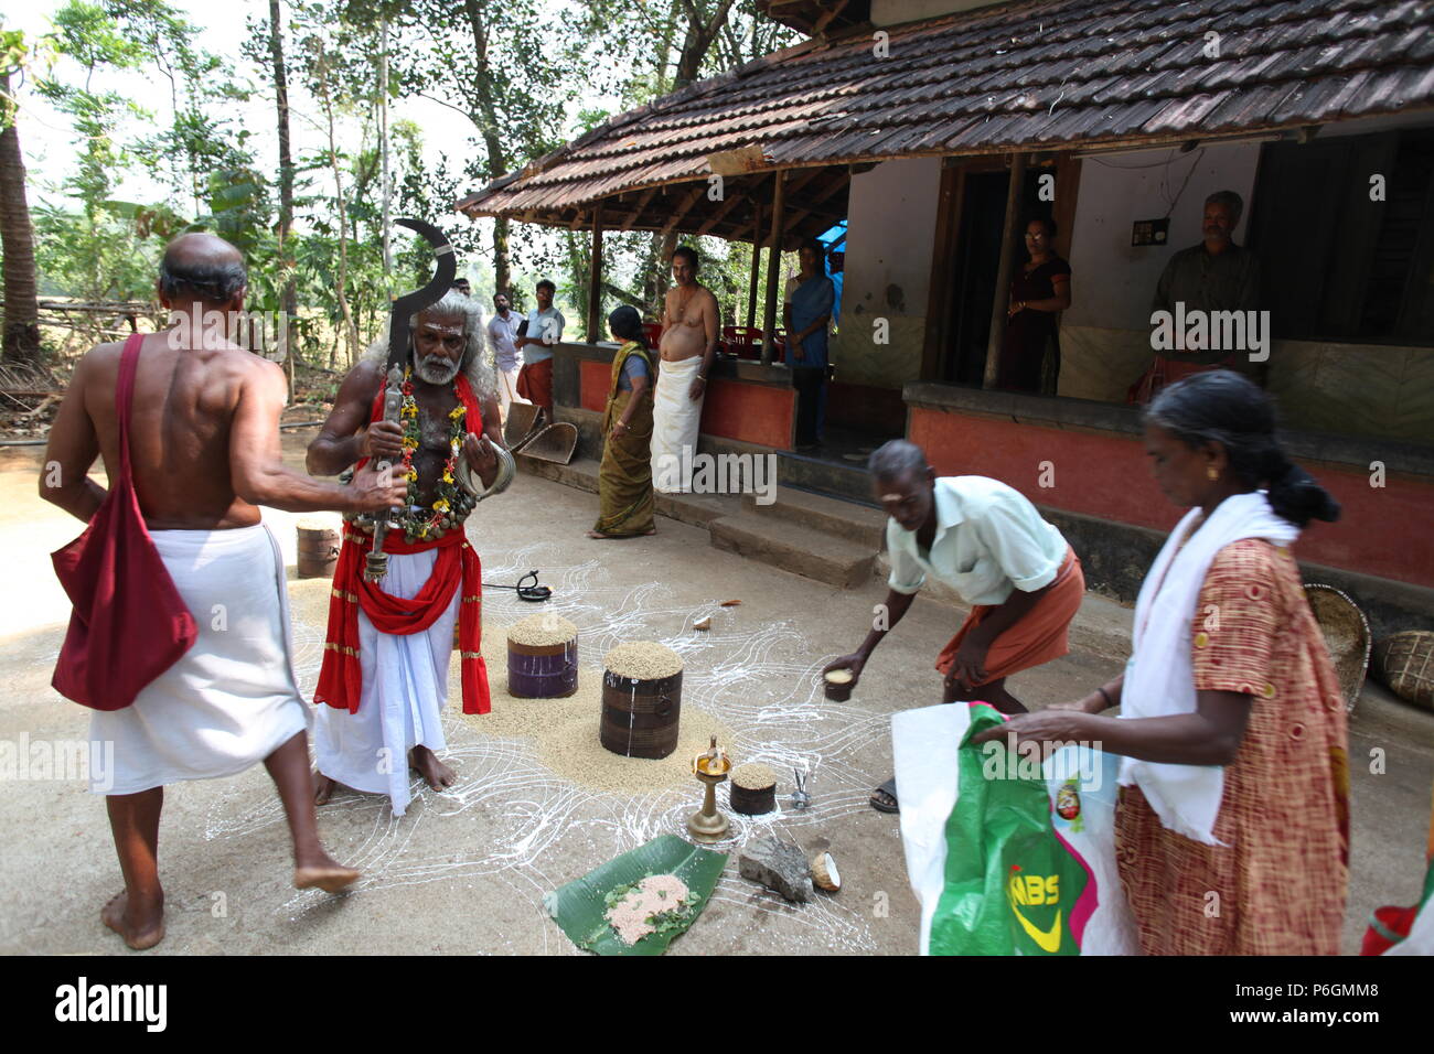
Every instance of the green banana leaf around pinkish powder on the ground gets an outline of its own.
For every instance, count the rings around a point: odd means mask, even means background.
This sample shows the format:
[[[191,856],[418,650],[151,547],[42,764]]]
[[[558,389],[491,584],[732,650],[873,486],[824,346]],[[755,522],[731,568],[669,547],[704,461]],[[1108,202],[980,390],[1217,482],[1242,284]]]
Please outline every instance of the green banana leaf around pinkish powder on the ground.
[[[661,955],[701,915],[726,866],[727,853],[698,849],[675,835],[663,835],[545,895],[543,906],[568,939],[584,951],[598,955]],[[685,882],[691,911],[685,912],[680,924],[660,928],[627,945],[608,922],[607,898],[612,891],[637,885],[648,875],[675,875]]]

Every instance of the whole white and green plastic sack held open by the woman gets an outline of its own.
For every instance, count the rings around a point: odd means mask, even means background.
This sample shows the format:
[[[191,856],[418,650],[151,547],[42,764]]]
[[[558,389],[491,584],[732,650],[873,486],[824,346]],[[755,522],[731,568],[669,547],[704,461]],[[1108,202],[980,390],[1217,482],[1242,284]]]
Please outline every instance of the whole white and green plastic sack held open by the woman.
[[[984,703],[892,717],[922,955],[1137,955],[1116,869],[1119,759],[1065,746],[1040,766]]]

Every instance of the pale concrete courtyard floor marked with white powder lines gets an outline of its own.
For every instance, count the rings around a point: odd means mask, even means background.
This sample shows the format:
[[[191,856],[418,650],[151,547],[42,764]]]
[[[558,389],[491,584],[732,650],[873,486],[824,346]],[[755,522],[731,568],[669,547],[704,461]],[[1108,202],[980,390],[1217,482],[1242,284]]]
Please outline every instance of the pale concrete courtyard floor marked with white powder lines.
[[[285,433],[285,456],[301,463],[311,430]],[[47,554],[79,523],[36,496],[42,447],[0,450],[0,545],[7,604],[0,609],[0,740],[20,744],[86,737],[86,711],[50,688],[69,614]],[[531,476],[479,506],[469,525],[485,581],[511,584],[536,568],[555,591],[543,605],[579,627],[588,675],[625,640],[660,640],[685,660],[688,721],[717,723],[737,763],[807,769],[813,807],[770,817],[734,816],[733,852],[714,898],[668,954],[913,954],[918,905],[906,882],[899,826],[866,806],[891,774],[889,716],[938,698],[932,660],[961,612],[918,598],[876,652],[855,697],[832,704],[817,671],[862,638],[883,587],[842,591],[708,545],[707,532],[668,519],[658,533],[627,542],[584,538],[592,495]],[[265,512],[294,562],[294,516]],[[290,595],[295,665],[305,695],[317,680],[328,585],[294,581]],[[720,608],[724,599],[740,607]],[[1093,602],[1106,604],[1094,598]],[[1106,604],[1107,608],[1113,607]],[[502,628],[535,605],[511,591],[485,591],[485,628],[495,693],[505,680]],[[693,622],[713,617],[708,632]],[[1104,612],[1108,618],[1108,611]],[[496,644],[496,652],[493,645]],[[1011,680],[1032,706],[1071,698],[1119,671],[1121,657],[1074,651]],[[457,784],[417,790],[406,816],[387,799],[341,793],[320,809],[330,852],[361,868],[343,896],[294,891],[287,830],[262,767],[238,777],[166,789],[161,875],[168,954],[574,954],[542,909],[543,893],[663,833],[683,833],[698,786],[674,754],[635,793],[595,786],[584,756],[591,741],[538,741],[498,713],[463,717],[457,678],[446,710]],[[529,704],[531,706],[531,704]],[[531,711],[536,713],[536,711]],[[539,716],[541,720],[541,716]],[[488,721],[488,727],[485,727]],[[542,737],[539,737],[542,740]],[[569,750],[569,747],[572,747]],[[1384,771],[1371,771],[1371,751]],[[591,756],[591,754],[588,754]],[[1424,873],[1434,784],[1434,717],[1367,687],[1351,724],[1354,846],[1344,946],[1358,948],[1369,911],[1410,903]],[[33,773],[32,773],[33,776]],[[0,799],[7,832],[0,853],[0,952],[132,954],[99,921],[122,888],[105,806],[77,779],[16,779]],[[809,852],[829,848],[840,893],[796,906],[737,875],[736,848],[774,830]]]

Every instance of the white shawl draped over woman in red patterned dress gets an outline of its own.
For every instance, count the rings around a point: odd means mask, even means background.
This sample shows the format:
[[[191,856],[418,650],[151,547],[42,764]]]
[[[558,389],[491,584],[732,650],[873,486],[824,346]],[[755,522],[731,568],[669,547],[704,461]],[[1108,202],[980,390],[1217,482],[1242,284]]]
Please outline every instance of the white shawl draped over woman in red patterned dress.
[[[1299,528],[1275,515],[1265,492],[1255,490],[1220,502],[1182,548],[1180,541],[1199,513],[1190,509],[1176,525],[1140,587],[1134,654],[1126,665],[1120,694],[1123,718],[1196,711],[1190,625],[1215,554],[1245,538],[1289,545],[1299,536]],[[1223,766],[1162,764],[1126,757],[1120,763],[1120,784],[1140,787],[1167,829],[1196,842],[1222,845],[1213,830],[1225,793]]]

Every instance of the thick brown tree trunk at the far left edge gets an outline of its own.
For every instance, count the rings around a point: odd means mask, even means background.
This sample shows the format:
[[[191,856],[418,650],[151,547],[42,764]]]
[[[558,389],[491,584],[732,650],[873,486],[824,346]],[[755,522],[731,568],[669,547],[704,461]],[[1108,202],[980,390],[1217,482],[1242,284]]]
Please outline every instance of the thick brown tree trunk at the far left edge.
[[[34,231],[24,199],[19,113],[10,105],[10,75],[0,73],[0,242],[4,247],[4,361],[40,359],[40,303],[34,277]]]

